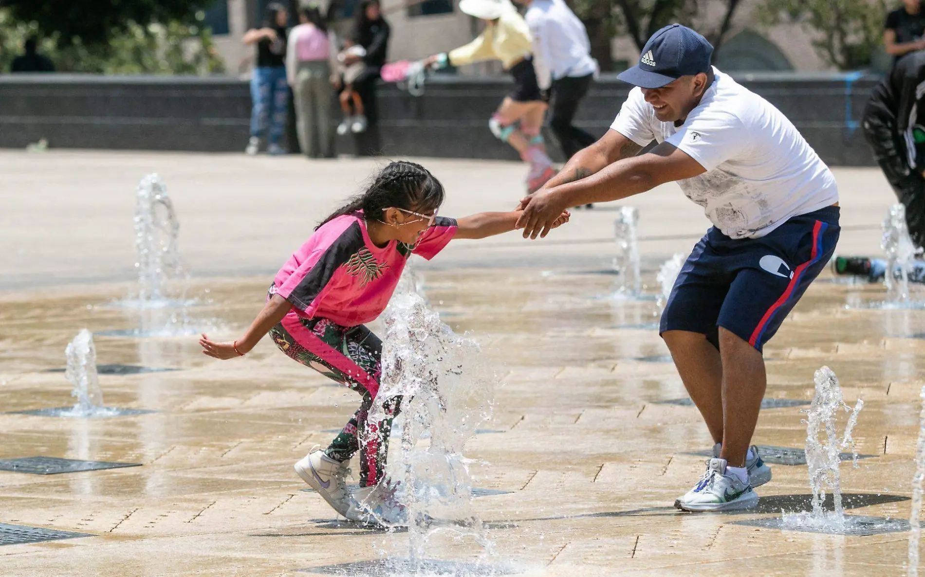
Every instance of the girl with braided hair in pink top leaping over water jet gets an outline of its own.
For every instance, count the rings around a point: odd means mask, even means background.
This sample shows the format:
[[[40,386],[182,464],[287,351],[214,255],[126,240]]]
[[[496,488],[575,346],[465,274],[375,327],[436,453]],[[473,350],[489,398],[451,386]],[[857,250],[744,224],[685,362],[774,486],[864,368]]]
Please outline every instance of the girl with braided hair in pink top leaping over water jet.
[[[404,522],[394,487],[383,481],[392,417],[401,397],[388,399],[391,416],[370,423],[382,342],[366,326],[386,308],[412,254],[430,260],[452,239],[484,239],[514,229],[521,212],[438,216],[444,190],[424,166],[393,162],[372,185],[328,216],[279,269],[261,311],[243,337],[216,342],[203,335],[203,353],[216,359],[245,355],[267,332],[277,347],[360,393],[360,408],[331,444],[295,464],[296,473],[351,521]],[[562,213],[555,226],[567,222]],[[345,477],[360,452],[360,488],[352,499]]]

